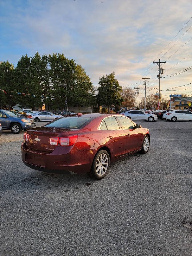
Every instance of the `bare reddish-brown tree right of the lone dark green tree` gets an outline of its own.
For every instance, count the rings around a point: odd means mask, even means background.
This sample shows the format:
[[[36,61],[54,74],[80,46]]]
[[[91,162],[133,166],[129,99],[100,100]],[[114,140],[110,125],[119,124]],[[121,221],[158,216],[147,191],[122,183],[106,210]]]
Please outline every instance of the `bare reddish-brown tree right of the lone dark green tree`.
[[[135,106],[135,91],[130,87],[124,87],[121,92],[121,97],[123,102],[121,103],[122,107],[132,108]]]

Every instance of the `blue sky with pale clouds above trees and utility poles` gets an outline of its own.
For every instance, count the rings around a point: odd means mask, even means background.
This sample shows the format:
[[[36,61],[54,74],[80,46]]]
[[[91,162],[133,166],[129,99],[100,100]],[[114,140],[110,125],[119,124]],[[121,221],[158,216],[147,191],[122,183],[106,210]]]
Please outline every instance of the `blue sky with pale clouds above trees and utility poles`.
[[[158,91],[153,61],[167,60],[165,75],[192,65],[191,9],[188,0],[0,0],[0,61],[16,66],[25,54],[64,53],[85,69],[94,86],[114,71],[122,87],[140,87],[140,101],[141,77],[151,77],[147,95]],[[192,84],[167,90],[192,83],[191,75],[192,69],[162,77],[162,96],[192,96]]]

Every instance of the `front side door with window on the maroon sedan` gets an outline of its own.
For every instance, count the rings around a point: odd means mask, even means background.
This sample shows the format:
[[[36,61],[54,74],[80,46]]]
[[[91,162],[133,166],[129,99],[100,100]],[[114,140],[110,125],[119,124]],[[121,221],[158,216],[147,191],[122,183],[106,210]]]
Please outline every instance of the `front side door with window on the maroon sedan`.
[[[126,117],[117,116],[117,119],[125,132],[125,152],[130,153],[141,148],[141,131],[135,128],[135,124]]]

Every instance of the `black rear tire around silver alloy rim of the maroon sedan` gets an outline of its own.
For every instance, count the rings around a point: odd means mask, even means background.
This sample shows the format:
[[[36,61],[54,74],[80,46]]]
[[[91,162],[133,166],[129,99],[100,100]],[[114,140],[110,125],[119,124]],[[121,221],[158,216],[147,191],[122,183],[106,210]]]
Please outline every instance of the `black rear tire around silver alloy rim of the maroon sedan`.
[[[101,158],[104,157],[103,159],[105,160],[105,156],[107,157],[107,160],[106,162],[108,163],[107,165],[107,169],[104,170],[102,167],[105,168],[106,164],[102,164],[101,161],[99,162],[98,161],[98,158],[99,156],[101,155]],[[99,165],[101,164],[101,167],[100,167],[100,174],[97,173],[97,170],[96,170],[96,164]],[[97,154],[95,155],[94,157],[94,160],[93,160],[93,163],[92,163],[92,167],[91,167],[91,171],[89,173],[90,177],[91,178],[95,178],[95,179],[103,179],[107,173],[108,173],[108,170],[109,170],[109,166],[110,166],[110,157],[109,157],[109,154],[106,150],[100,150],[97,152]],[[99,168],[99,166],[98,166]],[[102,170],[105,171],[103,174],[102,174]],[[98,171],[99,172],[99,171]]]

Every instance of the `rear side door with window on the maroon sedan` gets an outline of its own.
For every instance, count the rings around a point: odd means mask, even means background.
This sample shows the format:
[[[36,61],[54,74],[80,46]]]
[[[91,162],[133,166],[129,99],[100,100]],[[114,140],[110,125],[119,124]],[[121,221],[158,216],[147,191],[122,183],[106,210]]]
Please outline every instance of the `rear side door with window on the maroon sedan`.
[[[99,131],[105,137],[107,145],[114,157],[119,157],[125,154],[125,133],[120,128],[115,116],[104,118]]]

